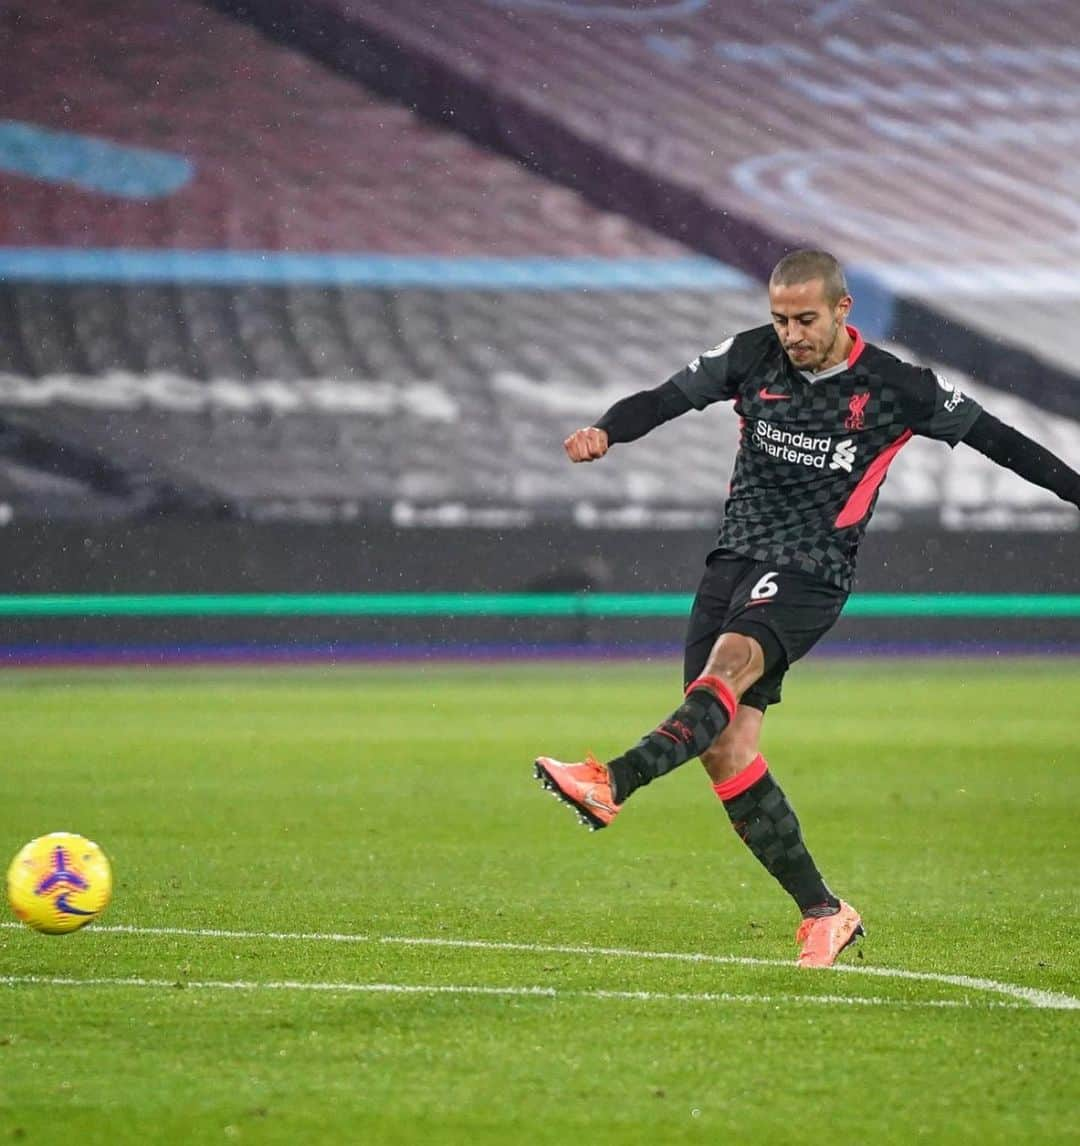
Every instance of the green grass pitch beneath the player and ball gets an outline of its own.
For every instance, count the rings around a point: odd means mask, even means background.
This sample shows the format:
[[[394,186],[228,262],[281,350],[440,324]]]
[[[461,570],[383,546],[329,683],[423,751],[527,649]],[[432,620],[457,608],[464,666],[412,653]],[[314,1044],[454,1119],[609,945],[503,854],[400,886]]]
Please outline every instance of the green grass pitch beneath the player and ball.
[[[595,834],[532,779],[676,685],[0,675],[0,843],[77,831],[116,871],[85,932],[0,928],[0,1143],[1080,1140],[1080,664],[789,677],[764,747],[866,919],[852,972],[791,966],[696,763]]]

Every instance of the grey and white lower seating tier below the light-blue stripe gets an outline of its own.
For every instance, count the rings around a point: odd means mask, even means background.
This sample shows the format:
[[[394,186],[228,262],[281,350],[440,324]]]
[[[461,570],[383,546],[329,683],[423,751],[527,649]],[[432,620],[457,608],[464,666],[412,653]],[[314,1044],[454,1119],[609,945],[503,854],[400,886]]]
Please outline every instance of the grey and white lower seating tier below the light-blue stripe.
[[[559,442],[618,397],[761,319],[756,290],[6,295],[3,313],[17,313],[21,329],[49,332],[36,377],[10,372],[10,360],[0,372],[7,425],[62,453],[107,457],[142,490],[131,505],[171,490],[191,509],[314,519],[460,502],[476,513],[516,507],[584,524],[619,520],[633,507],[657,524],[710,524],[734,457],[726,410],[690,415],[600,466],[571,469]],[[178,309],[232,336],[204,339],[197,322],[175,321]],[[170,333],[149,337],[161,331]],[[22,345],[31,345],[25,333]],[[1075,423],[963,384],[1080,460]],[[908,448],[889,489],[898,512],[937,513],[942,489],[946,504],[1052,509],[970,452],[931,444]],[[9,490],[23,512],[45,494],[25,484]]]

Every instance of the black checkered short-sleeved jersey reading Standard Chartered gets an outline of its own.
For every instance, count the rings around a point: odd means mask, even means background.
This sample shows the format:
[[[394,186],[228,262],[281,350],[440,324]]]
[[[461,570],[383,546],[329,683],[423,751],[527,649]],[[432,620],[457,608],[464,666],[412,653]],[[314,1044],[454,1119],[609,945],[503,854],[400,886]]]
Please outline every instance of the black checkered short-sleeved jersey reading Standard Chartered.
[[[851,589],[859,543],[893,458],[923,434],[955,446],[980,408],[932,370],[862,340],[809,375],[772,325],[748,330],[670,380],[697,409],[733,401],[739,446],[719,544]]]

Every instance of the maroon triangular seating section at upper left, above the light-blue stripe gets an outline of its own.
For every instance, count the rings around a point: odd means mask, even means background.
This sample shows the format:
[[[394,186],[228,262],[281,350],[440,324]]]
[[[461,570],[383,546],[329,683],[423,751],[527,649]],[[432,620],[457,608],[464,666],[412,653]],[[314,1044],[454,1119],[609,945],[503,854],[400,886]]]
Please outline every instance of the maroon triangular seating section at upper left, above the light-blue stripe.
[[[0,246],[686,253],[203,5],[11,0],[5,21],[7,120],[182,155],[193,173],[174,194],[105,198],[78,172],[11,174],[0,138]]]

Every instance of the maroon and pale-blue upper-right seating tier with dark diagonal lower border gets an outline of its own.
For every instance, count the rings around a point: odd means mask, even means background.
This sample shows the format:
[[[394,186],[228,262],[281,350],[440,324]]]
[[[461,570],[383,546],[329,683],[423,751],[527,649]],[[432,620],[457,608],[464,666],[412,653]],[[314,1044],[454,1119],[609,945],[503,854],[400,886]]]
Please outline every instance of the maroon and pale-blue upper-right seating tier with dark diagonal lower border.
[[[1072,0],[216,2],[759,276],[827,245],[878,336],[1080,411]]]

